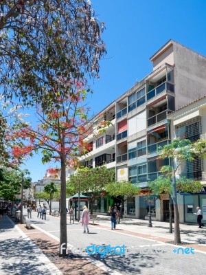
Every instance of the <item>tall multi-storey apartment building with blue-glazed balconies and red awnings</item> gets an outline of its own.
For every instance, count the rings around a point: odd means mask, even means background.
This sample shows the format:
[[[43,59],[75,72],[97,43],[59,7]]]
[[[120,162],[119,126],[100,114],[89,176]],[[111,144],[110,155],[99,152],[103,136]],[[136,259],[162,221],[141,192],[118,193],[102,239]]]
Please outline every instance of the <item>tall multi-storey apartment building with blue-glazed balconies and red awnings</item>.
[[[151,58],[153,70],[131,89],[93,118],[93,131],[104,120],[111,120],[106,132],[91,134],[91,151],[80,158],[84,166],[106,165],[114,168],[116,179],[139,182],[142,193],[148,181],[160,175],[168,159],[159,159],[157,147],[172,138],[168,115],[206,93],[206,58],[173,40],[165,43]],[[105,212],[118,201],[100,196],[96,212]],[[152,218],[168,217],[168,197],[150,203]],[[124,215],[146,219],[148,205],[144,197],[131,197],[124,205]]]

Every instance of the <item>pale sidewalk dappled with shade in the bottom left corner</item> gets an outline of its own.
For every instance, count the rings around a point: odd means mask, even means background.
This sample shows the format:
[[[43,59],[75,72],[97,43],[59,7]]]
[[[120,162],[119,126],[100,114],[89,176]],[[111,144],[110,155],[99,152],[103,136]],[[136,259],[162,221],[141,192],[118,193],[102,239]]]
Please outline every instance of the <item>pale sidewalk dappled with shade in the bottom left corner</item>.
[[[0,221],[0,249],[0,274],[62,274],[8,216]]]

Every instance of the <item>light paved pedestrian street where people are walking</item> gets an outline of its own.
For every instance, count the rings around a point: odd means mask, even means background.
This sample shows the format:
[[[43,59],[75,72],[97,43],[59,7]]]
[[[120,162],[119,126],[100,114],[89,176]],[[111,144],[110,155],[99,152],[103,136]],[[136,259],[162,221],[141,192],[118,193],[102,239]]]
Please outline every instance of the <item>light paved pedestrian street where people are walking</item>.
[[[45,230],[58,239],[60,219],[47,214],[45,221],[36,216],[36,212],[33,212],[32,219],[30,219],[31,223],[36,228]],[[137,223],[137,221],[133,221]],[[147,222],[141,221],[141,224],[138,225],[131,221],[122,221],[122,224],[117,225],[117,230],[111,230],[110,221],[101,220],[98,221],[97,225],[89,225],[89,234],[83,234],[80,224],[77,222],[70,224],[68,221],[68,243],[74,247],[73,251],[77,249],[78,251],[80,249],[85,251],[90,245],[111,245],[112,247],[125,245],[126,252],[128,251],[127,255],[106,254],[101,257],[100,254],[93,254],[90,256],[90,259],[97,260],[96,263],[113,270],[114,274],[149,274],[153,272],[159,275],[205,274],[203,263],[206,254],[204,245],[206,236],[204,229],[198,230],[197,225],[181,225],[184,232],[182,241],[187,242],[182,246],[183,251],[181,248],[178,250],[178,246],[159,241],[161,237],[173,239],[174,234],[171,236],[165,228],[168,223],[154,222],[155,226],[148,228]],[[142,232],[141,236],[138,236],[138,232]],[[146,236],[151,236],[151,232],[154,232],[154,235],[151,239],[147,239]],[[199,249],[194,243],[203,243],[202,250],[205,252],[198,252]],[[86,253],[83,256],[88,258]]]

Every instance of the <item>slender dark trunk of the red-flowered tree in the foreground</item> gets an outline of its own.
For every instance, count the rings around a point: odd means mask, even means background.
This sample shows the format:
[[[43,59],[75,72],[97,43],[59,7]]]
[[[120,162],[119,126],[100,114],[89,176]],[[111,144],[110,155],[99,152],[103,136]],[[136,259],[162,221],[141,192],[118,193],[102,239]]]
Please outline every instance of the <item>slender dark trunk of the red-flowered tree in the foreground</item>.
[[[67,210],[66,210],[66,162],[61,156],[61,190],[60,190],[60,247],[59,256],[67,254]]]

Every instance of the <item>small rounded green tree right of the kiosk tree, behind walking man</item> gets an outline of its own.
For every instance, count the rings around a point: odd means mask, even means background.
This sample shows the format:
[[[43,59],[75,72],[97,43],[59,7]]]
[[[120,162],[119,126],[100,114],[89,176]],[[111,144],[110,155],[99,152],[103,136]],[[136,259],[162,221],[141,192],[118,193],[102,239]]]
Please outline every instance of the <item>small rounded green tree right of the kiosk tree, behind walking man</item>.
[[[130,181],[115,181],[106,186],[106,192],[108,195],[119,199],[122,206],[124,206],[124,202],[128,199],[128,197],[138,195],[140,190],[141,189],[137,187],[137,185],[132,184]],[[120,213],[120,217],[122,217],[122,213]]]

